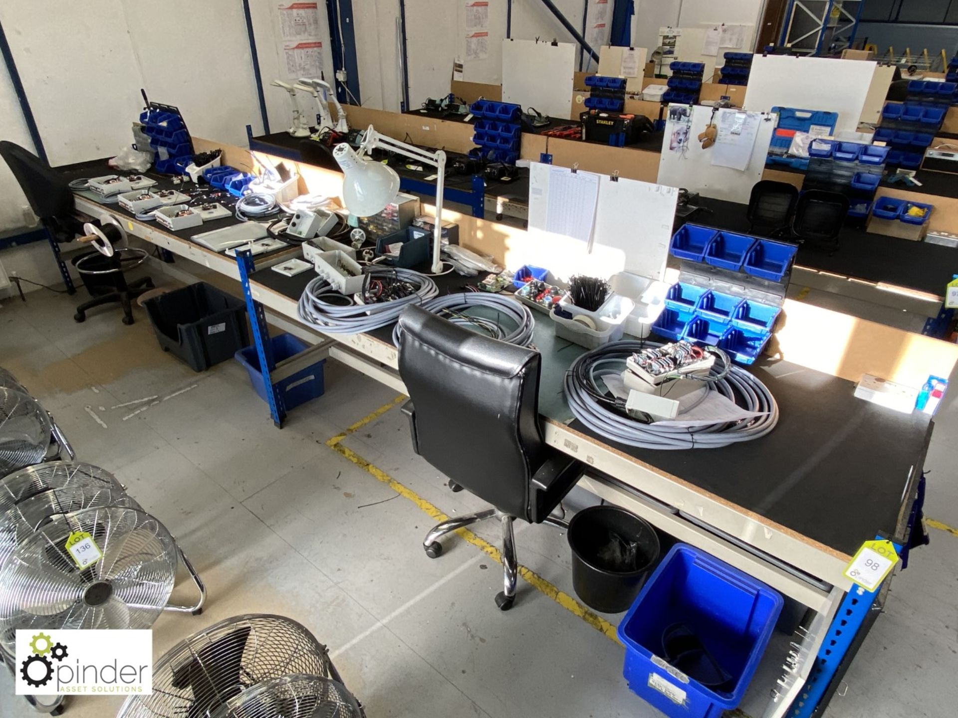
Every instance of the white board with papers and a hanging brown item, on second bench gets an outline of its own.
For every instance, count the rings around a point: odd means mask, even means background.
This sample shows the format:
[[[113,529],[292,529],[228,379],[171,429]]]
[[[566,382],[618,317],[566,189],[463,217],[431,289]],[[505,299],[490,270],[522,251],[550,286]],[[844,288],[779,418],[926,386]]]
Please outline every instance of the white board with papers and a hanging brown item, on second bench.
[[[751,92],[751,84],[749,84],[749,92]],[[687,105],[669,105],[670,109],[685,106]],[[693,105],[689,141],[685,146],[676,149],[672,148],[673,133],[681,123],[672,119],[666,121],[658,183],[700,192],[703,197],[747,204],[752,193],[752,186],[762,179],[765,157],[768,154],[768,146],[771,144],[772,131],[775,129],[774,115],[764,116],[748,167],[743,171],[713,165],[711,148],[702,149],[697,138],[705,131],[705,127],[711,120],[711,107]]]

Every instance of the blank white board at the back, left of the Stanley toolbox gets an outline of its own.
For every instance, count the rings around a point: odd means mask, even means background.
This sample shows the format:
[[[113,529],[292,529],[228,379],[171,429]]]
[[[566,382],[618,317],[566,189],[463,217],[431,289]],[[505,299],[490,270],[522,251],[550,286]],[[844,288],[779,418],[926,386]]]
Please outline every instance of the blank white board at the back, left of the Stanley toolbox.
[[[570,42],[502,41],[502,101],[535,107],[543,115],[572,113],[576,45]]]

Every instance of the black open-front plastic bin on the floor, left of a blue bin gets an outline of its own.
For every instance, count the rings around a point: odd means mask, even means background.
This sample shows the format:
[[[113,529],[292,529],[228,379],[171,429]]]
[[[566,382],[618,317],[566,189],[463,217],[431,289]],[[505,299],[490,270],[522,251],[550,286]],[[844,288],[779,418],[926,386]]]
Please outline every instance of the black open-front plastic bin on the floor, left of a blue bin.
[[[144,303],[156,338],[194,371],[231,359],[249,344],[246,303],[204,281]]]

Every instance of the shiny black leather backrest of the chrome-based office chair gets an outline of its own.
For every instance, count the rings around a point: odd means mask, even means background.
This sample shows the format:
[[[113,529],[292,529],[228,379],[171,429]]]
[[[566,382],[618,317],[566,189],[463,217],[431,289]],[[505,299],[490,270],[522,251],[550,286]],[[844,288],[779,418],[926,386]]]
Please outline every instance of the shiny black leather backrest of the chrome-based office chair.
[[[530,480],[544,460],[538,423],[541,358],[407,307],[399,375],[415,407],[414,441],[449,479],[530,520]]]

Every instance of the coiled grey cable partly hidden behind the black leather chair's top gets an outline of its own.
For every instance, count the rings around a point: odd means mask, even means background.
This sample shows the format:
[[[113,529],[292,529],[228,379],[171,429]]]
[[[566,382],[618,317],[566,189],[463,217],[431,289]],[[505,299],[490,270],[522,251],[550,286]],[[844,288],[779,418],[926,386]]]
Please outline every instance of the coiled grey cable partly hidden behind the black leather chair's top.
[[[468,310],[477,307],[487,307],[507,319],[505,325],[500,317],[490,317],[468,314]],[[447,294],[445,297],[436,297],[422,304],[422,308],[433,314],[449,320],[453,324],[475,329],[479,333],[488,334],[493,339],[503,342],[529,347],[533,343],[533,329],[536,320],[532,310],[525,304],[516,302],[501,294],[485,294],[483,292],[463,292],[461,294]],[[510,325],[515,328],[510,330]],[[399,347],[399,325],[393,329],[393,344]]]

